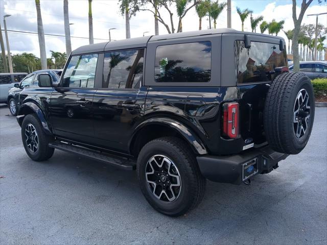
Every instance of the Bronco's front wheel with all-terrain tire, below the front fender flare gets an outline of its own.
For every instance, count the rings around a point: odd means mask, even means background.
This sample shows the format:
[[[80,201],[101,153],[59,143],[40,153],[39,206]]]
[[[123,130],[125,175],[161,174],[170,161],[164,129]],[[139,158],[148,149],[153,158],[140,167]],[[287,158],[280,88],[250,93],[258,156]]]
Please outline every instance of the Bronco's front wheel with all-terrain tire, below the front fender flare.
[[[35,142],[37,140],[37,147],[31,146],[31,139],[28,139],[30,136],[29,131],[36,131],[36,134],[32,134],[32,137]],[[53,137],[44,132],[41,122],[34,114],[28,114],[22,121],[21,139],[27,155],[34,161],[48,160],[55,151],[54,148],[49,147],[49,142],[53,140]],[[33,145],[36,144],[33,143]]]

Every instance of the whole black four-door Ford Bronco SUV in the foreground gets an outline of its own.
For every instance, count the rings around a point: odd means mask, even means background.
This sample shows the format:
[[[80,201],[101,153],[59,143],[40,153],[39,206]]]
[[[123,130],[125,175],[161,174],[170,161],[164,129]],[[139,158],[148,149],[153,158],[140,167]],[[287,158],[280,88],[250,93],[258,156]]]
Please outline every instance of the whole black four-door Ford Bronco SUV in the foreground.
[[[17,120],[35,161],[54,149],[136,169],[147,201],[178,216],[206,179],[249,183],[307,144],[308,77],[288,72],[285,41],[232,29],[82,46],[58,85],[38,74]]]

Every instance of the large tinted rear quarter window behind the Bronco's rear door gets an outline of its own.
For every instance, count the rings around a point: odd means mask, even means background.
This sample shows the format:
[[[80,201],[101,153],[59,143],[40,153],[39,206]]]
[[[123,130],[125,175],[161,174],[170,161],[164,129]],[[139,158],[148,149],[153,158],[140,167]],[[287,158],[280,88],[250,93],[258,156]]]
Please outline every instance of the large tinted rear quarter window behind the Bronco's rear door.
[[[154,78],[156,82],[209,82],[211,42],[158,46],[155,54]]]

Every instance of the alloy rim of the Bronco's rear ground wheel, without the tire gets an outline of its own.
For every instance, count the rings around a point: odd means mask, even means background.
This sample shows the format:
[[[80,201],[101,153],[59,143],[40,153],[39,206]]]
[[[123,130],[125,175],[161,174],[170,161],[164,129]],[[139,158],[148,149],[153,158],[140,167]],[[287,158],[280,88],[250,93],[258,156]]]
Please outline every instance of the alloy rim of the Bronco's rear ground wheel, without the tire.
[[[181,178],[176,165],[163,155],[152,156],[145,168],[146,180],[154,197],[174,202],[181,191]]]

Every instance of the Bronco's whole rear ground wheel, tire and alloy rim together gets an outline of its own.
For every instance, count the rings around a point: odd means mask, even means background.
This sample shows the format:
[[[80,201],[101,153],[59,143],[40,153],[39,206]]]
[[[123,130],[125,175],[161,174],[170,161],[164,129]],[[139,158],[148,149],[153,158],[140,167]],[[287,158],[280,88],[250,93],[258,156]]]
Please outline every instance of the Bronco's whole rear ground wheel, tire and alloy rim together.
[[[137,159],[137,178],[150,205],[169,216],[196,207],[206,183],[189,146],[174,137],[155,139],[143,147]]]

